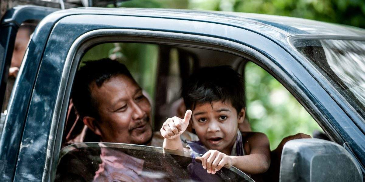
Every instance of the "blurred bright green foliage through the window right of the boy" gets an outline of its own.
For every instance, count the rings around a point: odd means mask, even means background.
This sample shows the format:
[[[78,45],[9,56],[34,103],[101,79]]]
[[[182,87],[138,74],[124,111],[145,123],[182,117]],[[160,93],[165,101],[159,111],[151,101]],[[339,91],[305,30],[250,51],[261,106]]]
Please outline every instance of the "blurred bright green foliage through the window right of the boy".
[[[251,128],[268,135],[271,149],[289,135],[322,131],[287,89],[254,63],[245,67],[245,84]]]

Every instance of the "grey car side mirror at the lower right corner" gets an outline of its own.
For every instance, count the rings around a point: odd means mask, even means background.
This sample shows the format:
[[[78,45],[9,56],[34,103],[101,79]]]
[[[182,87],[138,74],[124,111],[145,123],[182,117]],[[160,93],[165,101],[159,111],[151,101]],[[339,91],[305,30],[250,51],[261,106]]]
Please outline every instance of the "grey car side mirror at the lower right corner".
[[[280,182],[362,181],[357,161],[337,143],[316,139],[288,141],[281,154]]]

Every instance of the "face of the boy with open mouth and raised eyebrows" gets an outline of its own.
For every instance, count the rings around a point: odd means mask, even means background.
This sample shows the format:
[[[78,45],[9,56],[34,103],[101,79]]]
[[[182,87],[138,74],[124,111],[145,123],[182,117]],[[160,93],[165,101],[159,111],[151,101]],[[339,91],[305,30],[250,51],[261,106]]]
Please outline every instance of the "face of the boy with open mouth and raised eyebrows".
[[[230,155],[238,123],[245,118],[245,109],[237,113],[231,102],[215,101],[197,104],[193,110],[192,126],[200,141],[208,149]]]

